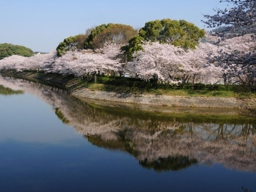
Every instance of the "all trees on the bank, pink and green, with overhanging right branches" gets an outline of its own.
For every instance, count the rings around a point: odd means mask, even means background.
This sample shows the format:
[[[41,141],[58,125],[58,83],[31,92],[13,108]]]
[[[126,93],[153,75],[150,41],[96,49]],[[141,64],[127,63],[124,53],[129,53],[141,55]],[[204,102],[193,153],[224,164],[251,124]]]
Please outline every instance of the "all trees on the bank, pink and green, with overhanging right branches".
[[[81,78],[120,75],[155,83],[202,82],[256,85],[256,0],[226,0],[204,21],[221,27],[206,34],[184,20],[155,20],[137,32],[122,24],[102,24],[66,38],[56,52],[31,58],[12,56],[0,69],[37,69]],[[206,34],[206,36],[205,36]]]

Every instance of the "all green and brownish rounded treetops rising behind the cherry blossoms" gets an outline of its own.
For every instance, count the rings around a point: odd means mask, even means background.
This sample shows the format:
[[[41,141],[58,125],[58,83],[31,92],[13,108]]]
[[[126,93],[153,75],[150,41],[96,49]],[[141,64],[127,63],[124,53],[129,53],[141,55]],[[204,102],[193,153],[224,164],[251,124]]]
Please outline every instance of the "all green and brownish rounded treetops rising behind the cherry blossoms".
[[[185,50],[196,48],[200,38],[204,37],[205,30],[185,20],[162,19],[146,22],[139,33],[132,26],[124,24],[102,24],[90,29],[88,35],[70,36],[60,42],[56,48],[58,56],[66,51],[76,49],[102,48],[106,42],[128,44],[122,47],[126,59],[131,60],[132,54],[142,50],[144,41],[169,43],[180,46]]]

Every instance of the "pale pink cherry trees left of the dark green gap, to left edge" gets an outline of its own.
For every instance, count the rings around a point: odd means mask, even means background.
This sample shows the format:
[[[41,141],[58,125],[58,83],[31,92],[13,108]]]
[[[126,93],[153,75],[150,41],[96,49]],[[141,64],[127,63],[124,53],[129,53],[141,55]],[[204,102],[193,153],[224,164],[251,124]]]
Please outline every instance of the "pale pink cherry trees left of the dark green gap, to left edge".
[[[56,51],[47,54],[36,54],[30,58],[22,56],[10,56],[0,60],[0,70],[14,69],[23,70],[43,70],[58,74],[69,74],[77,77],[117,72],[120,70],[118,54],[120,46],[107,44],[104,49],[68,51],[64,56],[58,58]]]

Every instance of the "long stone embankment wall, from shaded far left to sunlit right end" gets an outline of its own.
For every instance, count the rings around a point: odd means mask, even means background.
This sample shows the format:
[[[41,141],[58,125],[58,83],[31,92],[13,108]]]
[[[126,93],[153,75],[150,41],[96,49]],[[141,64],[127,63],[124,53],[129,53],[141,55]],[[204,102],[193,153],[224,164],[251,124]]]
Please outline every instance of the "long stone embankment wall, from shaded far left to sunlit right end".
[[[33,72],[15,72],[11,70],[2,71],[2,74],[58,85],[66,88],[70,93],[79,98],[90,100],[100,100],[107,102],[117,102],[123,104],[139,104],[163,107],[195,107],[195,108],[226,108],[238,109],[241,101],[237,98],[223,97],[189,97],[189,96],[167,96],[154,94],[132,94],[117,93],[101,90],[89,89],[81,86],[72,78],[64,78],[60,75],[42,74]]]

